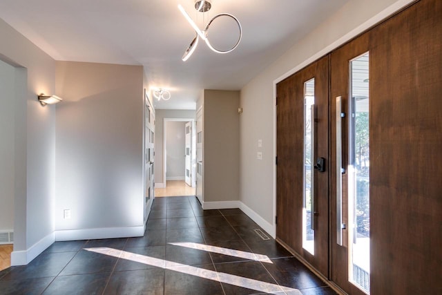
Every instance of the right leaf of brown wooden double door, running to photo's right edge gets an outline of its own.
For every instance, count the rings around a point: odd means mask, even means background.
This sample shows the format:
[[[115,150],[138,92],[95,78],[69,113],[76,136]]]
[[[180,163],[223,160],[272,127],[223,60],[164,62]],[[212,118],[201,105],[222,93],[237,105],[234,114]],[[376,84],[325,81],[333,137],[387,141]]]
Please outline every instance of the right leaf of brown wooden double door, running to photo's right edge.
[[[421,0],[330,57],[331,164],[336,166],[336,97],[343,102],[342,243],[332,169],[331,279],[349,294],[352,281],[349,175],[352,61],[369,55],[369,292],[442,294],[442,2]],[[338,153],[339,154],[339,153]],[[437,164],[436,164],[437,162]],[[361,210],[358,208],[358,210]],[[360,211],[358,213],[361,213]],[[353,272],[353,273],[352,273]]]

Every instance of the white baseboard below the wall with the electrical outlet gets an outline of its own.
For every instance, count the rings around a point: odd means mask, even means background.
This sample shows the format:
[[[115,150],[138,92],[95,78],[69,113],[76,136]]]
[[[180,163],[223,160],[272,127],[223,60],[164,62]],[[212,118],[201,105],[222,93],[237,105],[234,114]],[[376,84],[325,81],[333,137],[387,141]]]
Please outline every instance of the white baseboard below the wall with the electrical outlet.
[[[130,238],[135,236],[144,236],[144,225],[140,225],[139,227],[106,227],[102,229],[67,229],[55,231],[56,241]]]

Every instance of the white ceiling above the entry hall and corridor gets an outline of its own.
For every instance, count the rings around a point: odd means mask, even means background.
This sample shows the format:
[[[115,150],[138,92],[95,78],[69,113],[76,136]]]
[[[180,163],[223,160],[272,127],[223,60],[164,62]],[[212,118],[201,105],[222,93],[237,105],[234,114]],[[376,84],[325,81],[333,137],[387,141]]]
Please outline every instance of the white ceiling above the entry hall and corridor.
[[[202,89],[240,90],[348,0],[212,0],[204,19],[194,1],[1,0],[0,18],[57,60],[142,65],[151,87],[171,91],[155,108],[194,109]],[[219,55],[200,42],[183,62],[195,32],[178,3],[200,28],[220,12],[235,15],[238,48]],[[238,30],[216,25],[210,39],[234,43]]]

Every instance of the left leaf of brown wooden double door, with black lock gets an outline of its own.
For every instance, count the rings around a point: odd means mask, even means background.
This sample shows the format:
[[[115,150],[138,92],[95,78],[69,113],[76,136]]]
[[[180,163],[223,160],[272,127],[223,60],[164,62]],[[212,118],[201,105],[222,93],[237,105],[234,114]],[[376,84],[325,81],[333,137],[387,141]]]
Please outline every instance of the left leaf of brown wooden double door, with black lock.
[[[276,236],[325,277],[329,257],[328,63],[328,56],[323,57],[277,86]],[[318,158],[323,158],[322,167],[316,163]]]

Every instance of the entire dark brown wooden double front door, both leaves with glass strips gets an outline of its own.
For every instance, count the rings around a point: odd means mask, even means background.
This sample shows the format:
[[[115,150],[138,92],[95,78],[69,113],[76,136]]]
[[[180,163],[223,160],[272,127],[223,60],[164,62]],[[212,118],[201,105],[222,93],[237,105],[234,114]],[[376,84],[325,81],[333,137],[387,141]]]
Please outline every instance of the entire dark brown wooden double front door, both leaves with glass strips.
[[[348,294],[442,294],[442,1],[277,85],[278,242]]]

